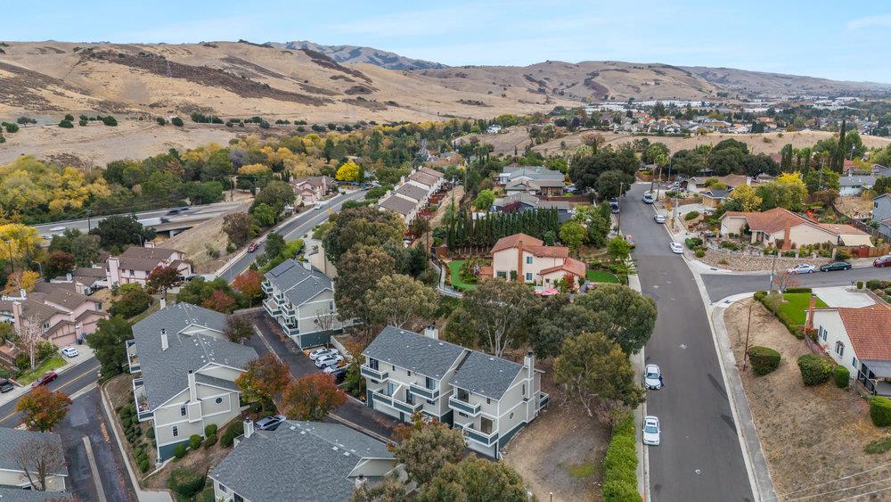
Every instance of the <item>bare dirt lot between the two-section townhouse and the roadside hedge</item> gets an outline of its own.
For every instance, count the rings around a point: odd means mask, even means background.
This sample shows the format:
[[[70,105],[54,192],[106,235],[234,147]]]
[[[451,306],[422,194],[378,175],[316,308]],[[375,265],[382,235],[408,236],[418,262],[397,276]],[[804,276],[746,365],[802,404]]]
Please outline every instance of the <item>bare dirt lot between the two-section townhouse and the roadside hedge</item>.
[[[523,476],[539,500],[549,500],[550,492],[554,500],[598,500],[609,424],[589,417],[582,407],[561,402],[551,368],[545,372],[542,387],[551,394],[551,402],[511,440],[504,461]]]

